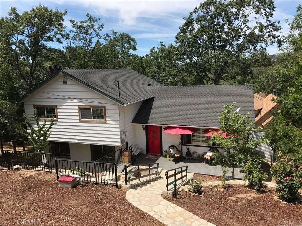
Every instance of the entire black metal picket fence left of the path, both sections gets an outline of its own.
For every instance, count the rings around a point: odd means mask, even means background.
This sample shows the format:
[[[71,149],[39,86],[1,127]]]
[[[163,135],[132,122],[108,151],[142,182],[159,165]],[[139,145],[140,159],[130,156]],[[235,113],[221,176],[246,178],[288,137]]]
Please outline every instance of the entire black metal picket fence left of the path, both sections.
[[[1,150],[0,166],[12,169],[27,169],[56,173],[76,174],[77,181],[112,185],[117,187],[117,164],[105,162],[83,162],[57,159],[56,154]]]

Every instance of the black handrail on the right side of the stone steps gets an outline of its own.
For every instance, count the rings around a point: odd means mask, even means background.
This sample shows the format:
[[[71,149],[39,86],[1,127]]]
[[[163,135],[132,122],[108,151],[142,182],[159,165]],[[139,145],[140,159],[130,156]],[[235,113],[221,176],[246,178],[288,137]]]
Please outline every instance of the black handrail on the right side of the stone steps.
[[[169,172],[171,172],[170,175],[169,175]],[[180,175],[180,177],[177,176],[177,175]],[[188,179],[188,166],[185,165],[185,166],[181,166],[181,167],[174,168],[174,169],[171,169],[171,170],[167,170],[165,172],[165,176],[166,176],[166,180],[167,180],[167,185],[166,185],[167,191],[169,191],[169,185],[173,184],[174,196],[176,198],[176,196],[177,196],[177,192],[176,192],[177,181],[182,180],[182,182],[183,182],[183,178],[185,178],[185,177],[186,177],[186,179]],[[169,182],[170,178],[173,178],[173,179],[170,180],[170,182]]]

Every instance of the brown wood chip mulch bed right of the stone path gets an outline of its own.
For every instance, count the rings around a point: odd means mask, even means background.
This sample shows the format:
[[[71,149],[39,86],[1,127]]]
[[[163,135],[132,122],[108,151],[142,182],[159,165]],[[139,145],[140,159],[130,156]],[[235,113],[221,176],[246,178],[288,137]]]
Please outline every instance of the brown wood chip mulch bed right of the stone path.
[[[274,200],[274,189],[262,193],[234,185],[228,190],[204,187],[204,195],[179,191],[170,202],[217,226],[285,225],[286,221],[302,222],[302,205],[291,205]],[[281,223],[280,223],[281,222]]]

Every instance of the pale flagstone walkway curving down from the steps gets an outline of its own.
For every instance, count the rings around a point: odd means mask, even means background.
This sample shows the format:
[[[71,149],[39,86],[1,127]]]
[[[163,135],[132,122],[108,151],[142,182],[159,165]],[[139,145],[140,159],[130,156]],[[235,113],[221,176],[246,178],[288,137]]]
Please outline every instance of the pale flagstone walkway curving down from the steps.
[[[165,171],[162,171],[161,175],[161,179],[149,182],[147,185],[134,190],[128,190],[126,193],[127,200],[132,203],[133,206],[136,206],[169,226],[215,226],[162,198],[162,191],[166,190],[166,180],[164,179]]]

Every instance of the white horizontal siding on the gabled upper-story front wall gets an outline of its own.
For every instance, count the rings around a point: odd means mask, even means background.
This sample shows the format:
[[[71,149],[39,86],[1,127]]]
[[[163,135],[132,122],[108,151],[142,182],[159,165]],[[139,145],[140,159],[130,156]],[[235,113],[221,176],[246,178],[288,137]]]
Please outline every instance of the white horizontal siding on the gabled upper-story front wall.
[[[68,77],[67,84],[63,85],[60,75],[27,97],[27,118],[34,116],[34,105],[57,106],[58,121],[51,129],[50,141],[120,146],[118,105]],[[105,106],[106,123],[80,122],[78,105]],[[34,120],[31,125],[37,128]]]

